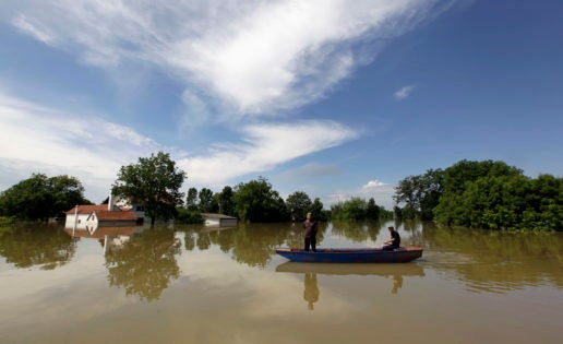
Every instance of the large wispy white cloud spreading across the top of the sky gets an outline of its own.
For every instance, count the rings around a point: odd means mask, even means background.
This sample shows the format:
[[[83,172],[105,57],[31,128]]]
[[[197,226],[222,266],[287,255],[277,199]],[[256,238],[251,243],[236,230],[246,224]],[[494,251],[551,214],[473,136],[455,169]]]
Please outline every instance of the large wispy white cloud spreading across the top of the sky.
[[[12,4],[12,22],[87,63],[147,61],[230,117],[271,116],[323,97],[381,41],[440,12],[436,2],[28,1]]]

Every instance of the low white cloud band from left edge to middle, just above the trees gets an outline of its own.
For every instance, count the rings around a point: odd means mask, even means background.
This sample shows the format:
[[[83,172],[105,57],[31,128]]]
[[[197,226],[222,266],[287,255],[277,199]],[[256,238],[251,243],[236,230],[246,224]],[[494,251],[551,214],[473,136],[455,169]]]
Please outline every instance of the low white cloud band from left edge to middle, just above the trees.
[[[233,178],[269,170],[358,137],[333,121],[252,124],[240,129],[241,142],[216,143],[207,155],[191,156],[181,149],[164,147],[131,128],[45,108],[2,93],[0,127],[1,190],[32,173],[64,174],[77,177],[86,197],[95,202],[109,192],[121,166],[157,151],[171,153],[188,173],[190,183],[221,187]]]

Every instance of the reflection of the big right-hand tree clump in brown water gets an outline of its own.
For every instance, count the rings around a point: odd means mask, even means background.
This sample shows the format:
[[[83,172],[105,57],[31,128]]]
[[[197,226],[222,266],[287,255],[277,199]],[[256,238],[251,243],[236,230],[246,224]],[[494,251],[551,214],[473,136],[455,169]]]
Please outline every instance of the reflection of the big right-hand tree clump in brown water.
[[[560,233],[506,233],[423,226],[424,261],[471,292],[505,293],[551,283],[563,287]],[[447,275],[446,275],[447,276]]]

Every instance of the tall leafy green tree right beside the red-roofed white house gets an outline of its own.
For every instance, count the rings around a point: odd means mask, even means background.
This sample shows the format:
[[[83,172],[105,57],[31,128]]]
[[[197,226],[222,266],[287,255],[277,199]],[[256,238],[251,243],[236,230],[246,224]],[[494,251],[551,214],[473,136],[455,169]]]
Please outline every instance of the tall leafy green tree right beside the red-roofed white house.
[[[176,205],[183,204],[183,192],[179,190],[184,178],[185,173],[176,167],[169,154],[158,152],[122,166],[112,193],[142,204],[154,226],[157,216],[170,218],[176,214]]]

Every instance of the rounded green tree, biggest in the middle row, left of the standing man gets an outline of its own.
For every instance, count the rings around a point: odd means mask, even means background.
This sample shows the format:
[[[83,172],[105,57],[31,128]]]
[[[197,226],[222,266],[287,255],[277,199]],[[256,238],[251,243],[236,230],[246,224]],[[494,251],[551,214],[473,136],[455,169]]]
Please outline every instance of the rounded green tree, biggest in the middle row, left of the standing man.
[[[239,218],[249,222],[280,222],[288,216],[284,199],[264,177],[235,188],[235,210]]]

